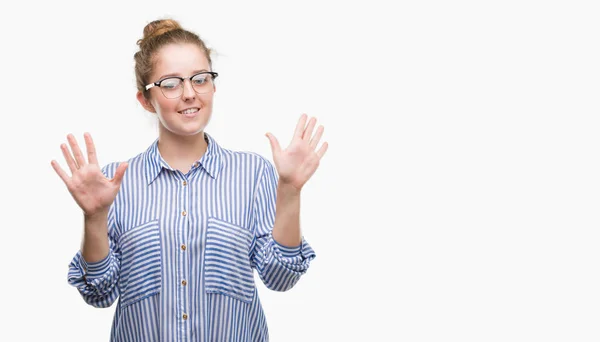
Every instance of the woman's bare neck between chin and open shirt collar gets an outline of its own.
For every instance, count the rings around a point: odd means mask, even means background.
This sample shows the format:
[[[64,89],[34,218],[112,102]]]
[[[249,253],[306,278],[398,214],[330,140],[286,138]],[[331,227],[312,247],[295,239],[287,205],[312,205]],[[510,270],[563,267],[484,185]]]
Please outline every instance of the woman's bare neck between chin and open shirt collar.
[[[183,173],[190,170],[192,164],[204,155],[207,148],[204,131],[195,135],[180,136],[161,129],[158,134],[160,155],[169,166]]]

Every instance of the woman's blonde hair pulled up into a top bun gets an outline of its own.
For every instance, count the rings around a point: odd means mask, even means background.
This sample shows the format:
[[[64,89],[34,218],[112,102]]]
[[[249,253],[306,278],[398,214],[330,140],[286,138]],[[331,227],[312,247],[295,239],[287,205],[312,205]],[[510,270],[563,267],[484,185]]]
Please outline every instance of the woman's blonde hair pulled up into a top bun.
[[[154,69],[157,52],[169,44],[194,44],[204,52],[208,59],[210,70],[212,70],[212,50],[200,37],[190,31],[184,30],[179,23],[173,19],[160,19],[150,22],[144,27],[144,37],[137,41],[140,51],[133,55],[135,60],[135,78],[137,89],[149,99],[150,93],[146,90],[146,84],[150,83],[150,75]]]

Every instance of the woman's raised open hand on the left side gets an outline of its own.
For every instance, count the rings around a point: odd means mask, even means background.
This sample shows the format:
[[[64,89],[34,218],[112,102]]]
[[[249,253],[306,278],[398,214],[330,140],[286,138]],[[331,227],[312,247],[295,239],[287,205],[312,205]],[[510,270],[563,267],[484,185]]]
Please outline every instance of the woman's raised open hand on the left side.
[[[61,144],[67,165],[71,170],[71,176],[58,165],[56,160],[52,160],[52,167],[58,176],[63,180],[67,189],[75,199],[75,202],[81,207],[86,217],[106,214],[108,208],[117,197],[123,175],[127,169],[126,162],[119,164],[113,179],[108,179],[102,173],[98,165],[96,148],[89,133],[84,134],[85,146],[87,150],[88,161],[85,160],[75,137],[72,134],[67,136],[67,141],[71,146],[71,151],[66,144]]]

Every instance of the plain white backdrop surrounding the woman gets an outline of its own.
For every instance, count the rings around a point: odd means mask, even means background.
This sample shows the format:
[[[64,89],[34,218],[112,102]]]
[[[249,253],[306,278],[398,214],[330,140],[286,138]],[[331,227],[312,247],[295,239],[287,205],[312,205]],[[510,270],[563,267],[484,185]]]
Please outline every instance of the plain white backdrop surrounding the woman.
[[[272,341],[598,341],[594,1],[0,5],[2,341],[107,341],[67,284],[80,209],[50,166],[157,135],[133,54],[172,17],[217,51],[207,128],[271,159],[303,112],[330,144],[302,198],[317,258],[259,293]],[[10,7],[8,7],[10,5]]]

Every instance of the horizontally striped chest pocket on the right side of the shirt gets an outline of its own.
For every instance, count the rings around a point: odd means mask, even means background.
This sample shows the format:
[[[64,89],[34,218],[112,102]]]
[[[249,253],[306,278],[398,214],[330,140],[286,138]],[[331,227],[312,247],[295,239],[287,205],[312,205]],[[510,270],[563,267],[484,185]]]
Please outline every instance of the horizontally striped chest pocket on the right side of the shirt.
[[[205,290],[251,303],[254,273],[250,266],[252,233],[229,222],[209,218],[204,252]]]

